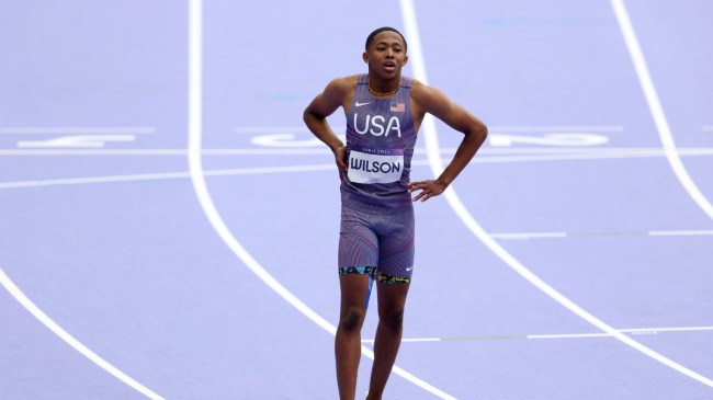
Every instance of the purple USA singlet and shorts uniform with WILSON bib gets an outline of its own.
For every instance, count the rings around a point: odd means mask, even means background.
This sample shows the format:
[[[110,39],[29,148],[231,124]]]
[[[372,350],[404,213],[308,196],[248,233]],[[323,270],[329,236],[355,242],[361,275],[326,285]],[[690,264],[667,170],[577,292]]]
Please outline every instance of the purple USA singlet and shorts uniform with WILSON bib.
[[[348,170],[341,173],[340,274],[373,273],[381,282],[409,282],[414,267],[414,204],[408,193],[416,129],[411,79],[388,99],[359,77],[346,110]]]

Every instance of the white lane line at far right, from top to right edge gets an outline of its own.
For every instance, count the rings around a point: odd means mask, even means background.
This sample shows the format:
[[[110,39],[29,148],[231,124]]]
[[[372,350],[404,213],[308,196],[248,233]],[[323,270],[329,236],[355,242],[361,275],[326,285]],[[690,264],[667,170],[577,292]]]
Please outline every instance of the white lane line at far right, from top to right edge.
[[[648,71],[644,52],[638,43],[638,38],[636,37],[636,32],[634,32],[634,26],[629,16],[629,11],[626,11],[626,5],[623,0],[611,0],[611,5],[614,9],[616,21],[619,22],[622,35],[624,36],[624,42],[626,43],[632,61],[634,62],[634,69],[636,70],[636,76],[638,77],[638,81],[644,91],[648,108],[650,110],[654,123],[656,124],[656,129],[658,130],[661,145],[664,146],[664,150],[666,150],[666,159],[671,165],[674,173],[676,173],[676,176],[678,176],[678,180],[681,182],[688,194],[693,198],[695,204],[701,207],[709,218],[713,219],[713,205],[695,185],[695,182],[693,182],[693,179],[689,175],[686,165],[683,165],[683,162],[678,155],[671,128],[666,119],[664,107],[661,106],[661,102],[656,92],[654,80]]]

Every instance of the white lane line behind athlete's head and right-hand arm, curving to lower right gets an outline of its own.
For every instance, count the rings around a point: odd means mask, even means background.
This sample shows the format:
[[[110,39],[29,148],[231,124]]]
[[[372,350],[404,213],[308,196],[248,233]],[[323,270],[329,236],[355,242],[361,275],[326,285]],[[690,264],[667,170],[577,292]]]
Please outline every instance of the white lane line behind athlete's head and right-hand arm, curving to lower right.
[[[416,79],[419,79],[420,81],[427,83],[428,78],[426,73],[426,64],[425,64],[425,57],[422,55],[420,39],[419,39],[418,23],[416,22],[416,10],[414,8],[414,2],[412,0],[400,0],[400,4],[401,4],[401,9],[405,10],[404,18],[405,18],[406,32],[407,32],[407,36],[409,37],[409,41],[411,42],[410,47],[412,48],[412,50],[409,60],[414,69],[414,75]],[[429,152],[431,169],[433,175],[438,176],[441,174],[444,167],[441,157],[439,155],[438,133],[435,129],[435,123],[433,118],[430,115],[427,116],[427,118],[423,119],[421,127],[423,129],[426,147],[427,149],[431,150]],[[485,231],[485,229],[480,227],[480,225],[475,220],[475,218],[473,218],[471,213],[467,210],[463,202],[461,202],[453,186],[451,186],[444,192],[444,196],[446,197],[449,204],[451,205],[455,214],[461,218],[463,224],[473,232],[473,235],[475,235],[475,237],[477,237],[486,247],[488,247],[494,253],[496,253],[507,265],[509,265],[512,270],[514,270],[518,274],[520,274],[523,278],[529,281],[532,285],[537,287],[544,294],[553,298],[555,301],[559,302],[562,306],[564,306],[575,315],[579,316],[581,319],[597,327],[601,331],[611,334],[612,336],[620,340],[624,344],[646,354],[647,356],[658,361],[661,364],[665,364],[680,372],[681,374],[684,374],[695,380],[699,380],[704,385],[713,387],[713,380],[689,368],[683,367],[682,365],[663,356],[661,354],[653,351],[652,348],[648,348],[642,343],[629,338],[624,333],[619,332],[611,325],[607,324],[604,321],[595,317],[589,311],[579,307],[569,298],[562,295],[554,287],[550,286],[546,282],[544,282],[542,278],[536,276],[532,271],[528,270],[520,261],[518,261],[507,250],[505,250],[505,248],[502,248],[495,239],[493,239],[488,235],[488,232]]]

